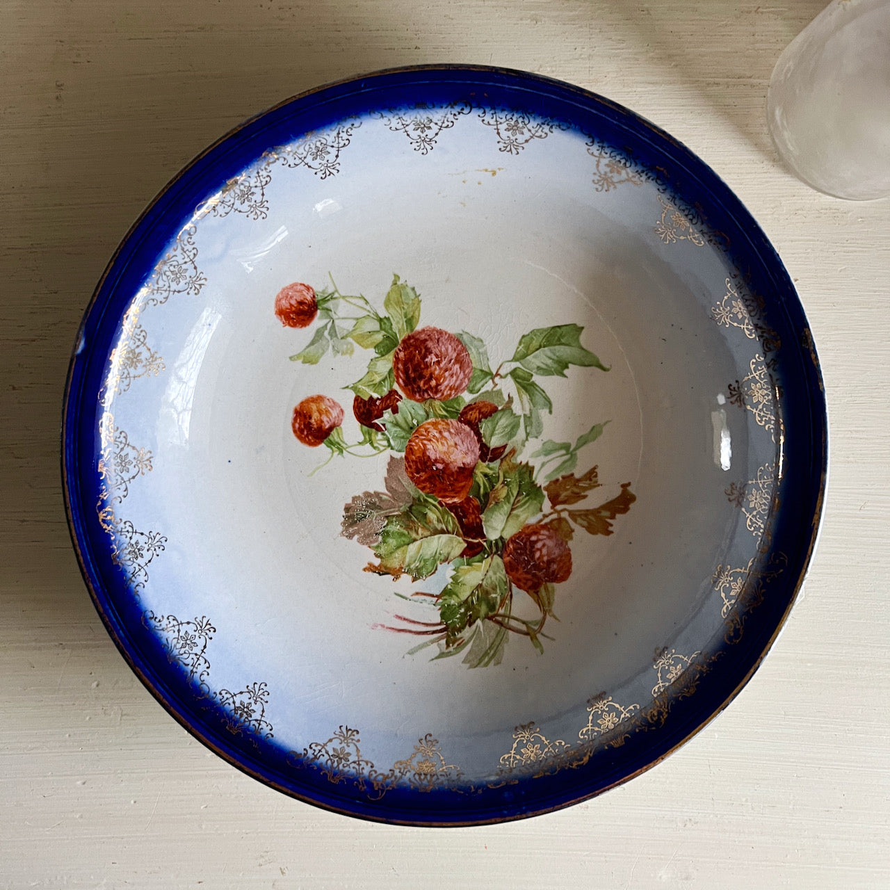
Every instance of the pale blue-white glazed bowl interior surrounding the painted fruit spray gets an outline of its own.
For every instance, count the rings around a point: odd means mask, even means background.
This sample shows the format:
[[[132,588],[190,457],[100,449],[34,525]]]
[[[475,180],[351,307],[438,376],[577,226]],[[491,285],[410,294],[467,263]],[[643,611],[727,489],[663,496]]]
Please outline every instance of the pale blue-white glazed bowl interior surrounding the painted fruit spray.
[[[511,153],[469,115],[428,150],[416,145],[366,117],[336,174],[261,158],[240,181],[253,198],[230,188],[199,207],[158,261],[205,280],[164,302],[157,278],[134,294],[117,344],[132,367],[101,411],[150,452],[117,519],[166,538],[150,563],[133,557],[145,570],[134,595],[173,616],[177,633],[212,623],[212,637],[198,633],[212,691],[267,684],[263,719],[296,752],[349,726],[366,757],[389,765],[432,733],[475,781],[497,772],[515,726],[577,741],[591,696],[642,703],[660,679],[654,653],[688,657],[720,632],[715,570],[744,565],[760,533],[727,490],[769,468],[776,447],[727,402],[762,349],[719,321],[743,289],[737,271],[655,182],[558,127]],[[578,463],[578,473],[599,467],[595,503],[627,482],[636,496],[613,534],[573,538],[543,654],[513,635],[490,667],[433,660],[435,647],[407,654],[424,638],[379,626],[433,620],[396,594],[441,589],[444,570],[414,584],[369,574],[368,548],[341,535],[344,504],[383,488],[387,456],[336,457],[312,474],[327,449],[291,433],[295,404],[325,393],[344,406],[347,441],[358,438],[343,387],[368,353],[289,361],[312,329],[282,327],[279,288],[332,276],[380,308],[393,273],[417,288],[421,326],[481,337],[492,368],[531,328],[568,323],[611,367],[541,380],[554,402],[542,438],[574,441],[610,422]],[[120,353],[109,369],[121,374]]]

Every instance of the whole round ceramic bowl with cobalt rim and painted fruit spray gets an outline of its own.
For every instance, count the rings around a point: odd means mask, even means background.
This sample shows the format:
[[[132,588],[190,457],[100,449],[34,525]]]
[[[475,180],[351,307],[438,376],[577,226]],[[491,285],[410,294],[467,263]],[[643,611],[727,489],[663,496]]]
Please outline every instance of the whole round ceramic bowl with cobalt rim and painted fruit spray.
[[[420,328],[472,362],[412,358],[444,401],[393,373]],[[308,448],[319,395],[343,422]],[[405,472],[432,420],[485,446],[459,503]],[[569,805],[697,732],[789,611],[827,466],[797,295],[708,166],[448,66],[306,93],[177,176],[86,312],[63,437],[86,583],[165,708],[287,794],[422,825]]]

